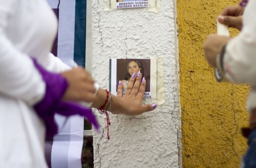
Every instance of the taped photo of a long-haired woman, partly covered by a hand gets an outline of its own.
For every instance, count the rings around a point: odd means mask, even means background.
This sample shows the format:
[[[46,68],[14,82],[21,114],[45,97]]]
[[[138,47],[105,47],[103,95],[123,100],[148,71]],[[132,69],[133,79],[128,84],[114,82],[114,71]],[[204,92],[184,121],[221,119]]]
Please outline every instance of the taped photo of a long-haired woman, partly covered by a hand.
[[[119,80],[123,85],[123,95],[131,75],[140,71],[146,79],[144,98],[151,99],[150,59],[110,59],[110,91],[117,95]]]

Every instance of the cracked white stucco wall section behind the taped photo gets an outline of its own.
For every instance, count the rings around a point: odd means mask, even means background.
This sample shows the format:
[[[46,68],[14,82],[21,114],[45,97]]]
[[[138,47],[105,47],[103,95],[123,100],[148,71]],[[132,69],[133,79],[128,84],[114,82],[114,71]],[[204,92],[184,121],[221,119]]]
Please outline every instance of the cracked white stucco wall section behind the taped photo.
[[[136,117],[97,114],[94,131],[95,168],[179,167],[181,114],[178,89],[176,7],[161,1],[161,12],[147,8],[104,12],[103,0],[93,1],[93,76],[109,88],[109,58],[164,57],[165,104]],[[145,100],[144,103],[151,103]]]

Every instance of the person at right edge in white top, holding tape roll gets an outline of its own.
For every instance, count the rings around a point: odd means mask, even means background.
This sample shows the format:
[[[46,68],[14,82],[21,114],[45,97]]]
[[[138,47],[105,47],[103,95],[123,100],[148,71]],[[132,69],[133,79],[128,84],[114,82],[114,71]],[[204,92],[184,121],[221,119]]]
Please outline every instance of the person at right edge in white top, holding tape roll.
[[[247,4],[248,3],[248,4]],[[247,5],[246,5],[247,4]],[[246,6],[246,7],[245,7]],[[244,8],[245,7],[245,8]],[[218,67],[232,83],[251,85],[247,109],[250,112],[249,148],[242,167],[256,167],[256,1],[242,0],[240,6],[223,9],[218,21],[241,30],[237,37],[229,38],[216,34],[207,37],[204,55],[209,64]],[[220,59],[217,59],[217,58]],[[220,60],[220,62],[218,62]],[[220,64],[220,65],[218,65]]]

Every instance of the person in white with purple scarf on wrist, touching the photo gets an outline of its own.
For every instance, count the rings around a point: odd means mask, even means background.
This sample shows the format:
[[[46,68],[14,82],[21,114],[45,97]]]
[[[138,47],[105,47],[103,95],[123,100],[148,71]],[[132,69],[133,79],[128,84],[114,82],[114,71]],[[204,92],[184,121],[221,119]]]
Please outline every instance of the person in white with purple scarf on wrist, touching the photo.
[[[97,91],[83,68],[71,69],[50,53],[56,32],[56,16],[45,0],[0,0],[0,168],[46,168],[45,132],[56,133],[52,116],[62,107],[78,108],[81,115],[88,109],[75,102],[127,115],[157,107],[141,104],[145,80],[139,74],[123,98],[122,85],[117,96]]]

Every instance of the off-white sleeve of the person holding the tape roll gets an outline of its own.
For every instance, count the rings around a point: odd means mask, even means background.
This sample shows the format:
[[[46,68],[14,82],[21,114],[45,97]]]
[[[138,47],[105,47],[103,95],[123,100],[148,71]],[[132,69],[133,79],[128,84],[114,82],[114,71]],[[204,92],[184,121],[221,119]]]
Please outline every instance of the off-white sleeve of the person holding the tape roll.
[[[233,83],[256,86],[256,1],[249,1],[241,33],[229,41],[223,58],[226,77]]]

